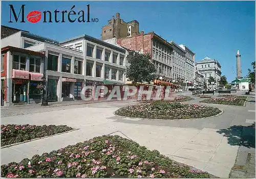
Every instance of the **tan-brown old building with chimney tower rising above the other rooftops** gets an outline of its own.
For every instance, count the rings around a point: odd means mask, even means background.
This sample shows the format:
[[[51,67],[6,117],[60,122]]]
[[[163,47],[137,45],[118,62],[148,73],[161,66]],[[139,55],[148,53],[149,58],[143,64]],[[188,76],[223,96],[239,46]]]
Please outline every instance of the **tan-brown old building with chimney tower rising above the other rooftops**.
[[[116,17],[112,16],[112,19],[108,21],[108,25],[102,27],[101,39],[111,39],[116,37],[117,39],[132,36],[132,34],[139,34],[139,22],[132,20],[128,23],[120,18],[120,14],[116,13]]]

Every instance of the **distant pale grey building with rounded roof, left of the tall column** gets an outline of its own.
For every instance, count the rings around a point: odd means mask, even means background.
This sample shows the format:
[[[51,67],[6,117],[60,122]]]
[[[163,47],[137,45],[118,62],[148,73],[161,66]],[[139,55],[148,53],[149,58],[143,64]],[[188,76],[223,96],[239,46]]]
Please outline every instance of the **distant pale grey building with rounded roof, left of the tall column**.
[[[216,59],[211,59],[208,56],[204,59],[196,62],[197,68],[200,73],[204,76],[204,80],[207,82],[207,87],[212,89],[212,87],[219,86],[219,80],[221,78],[221,64]],[[209,84],[209,77],[215,78],[215,83]]]

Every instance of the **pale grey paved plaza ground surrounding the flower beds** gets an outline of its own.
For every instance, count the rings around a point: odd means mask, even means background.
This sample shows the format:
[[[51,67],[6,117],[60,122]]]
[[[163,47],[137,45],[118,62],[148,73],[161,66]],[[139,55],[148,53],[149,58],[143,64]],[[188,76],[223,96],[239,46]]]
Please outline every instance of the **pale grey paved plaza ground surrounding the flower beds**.
[[[195,99],[187,103],[199,103],[202,100],[199,97],[193,98]],[[158,150],[170,159],[223,178],[229,177],[238,153],[250,153],[254,159],[255,127],[250,127],[255,118],[254,93],[249,95],[246,106],[199,103],[224,111],[220,116],[205,119],[140,120],[114,115],[118,108],[134,103],[136,102],[129,100],[4,107],[2,124],[68,125],[79,130],[3,148],[1,162],[20,162],[35,154],[109,134],[129,138],[148,149]],[[255,167],[255,162],[251,162],[250,167],[252,166]]]

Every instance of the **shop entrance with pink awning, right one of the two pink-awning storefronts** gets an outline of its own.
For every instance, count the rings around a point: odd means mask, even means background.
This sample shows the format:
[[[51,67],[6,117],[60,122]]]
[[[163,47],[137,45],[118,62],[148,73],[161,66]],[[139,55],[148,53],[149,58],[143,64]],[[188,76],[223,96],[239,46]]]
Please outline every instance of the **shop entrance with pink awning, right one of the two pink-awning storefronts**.
[[[42,92],[37,88],[37,85],[41,84],[44,74],[29,72],[29,103],[40,103]]]

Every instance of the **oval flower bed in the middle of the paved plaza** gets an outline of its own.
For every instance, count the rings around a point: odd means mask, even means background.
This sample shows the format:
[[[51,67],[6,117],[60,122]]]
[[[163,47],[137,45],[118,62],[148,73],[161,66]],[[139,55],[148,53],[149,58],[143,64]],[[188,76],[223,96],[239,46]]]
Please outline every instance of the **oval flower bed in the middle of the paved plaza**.
[[[153,101],[122,107],[116,115],[147,119],[194,119],[215,116],[221,110],[215,107],[179,102]]]

